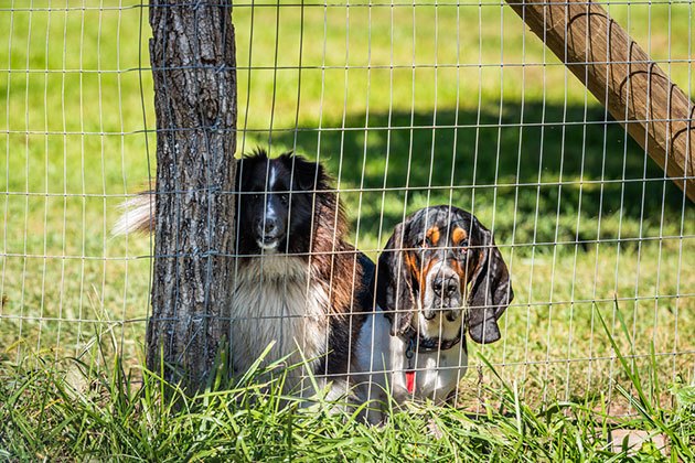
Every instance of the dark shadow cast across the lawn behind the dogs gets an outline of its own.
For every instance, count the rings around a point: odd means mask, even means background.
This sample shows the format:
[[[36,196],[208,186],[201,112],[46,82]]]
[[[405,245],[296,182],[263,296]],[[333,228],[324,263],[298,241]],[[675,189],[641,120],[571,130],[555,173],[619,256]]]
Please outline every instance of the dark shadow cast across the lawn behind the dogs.
[[[685,220],[682,192],[600,107],[504,103],[501,115],[495,104],[480,114],[381,112],[348,117],[346,130],[340,120],[323,127],[276,131],[272,144],[329,165],[361,234],[392,229],[404,206],[410,213],[450,197],[515,244],[659,236],[661,226],[678,234]]]

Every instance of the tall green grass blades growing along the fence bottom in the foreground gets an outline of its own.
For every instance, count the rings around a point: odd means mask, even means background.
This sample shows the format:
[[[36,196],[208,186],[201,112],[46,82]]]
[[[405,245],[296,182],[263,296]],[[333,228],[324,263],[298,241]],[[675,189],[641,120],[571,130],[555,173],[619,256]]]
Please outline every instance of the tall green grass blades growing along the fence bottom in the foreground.
[[[619,313],[619,312],[618,312]],[[695,388],[682,383],[662,389],[657,359],[640,368],[628,340],[628,325],[610,336],[620,372],[628,380],[620,394],[638,413],[612,417],[605,397],[550,400],[533,409],[521,399],[520,384],[504,380],[482,357],[500,387],[483,388],[473,414],[430,403],[396,410],[381,427],[355,419],[318,400],[309,408],[279,390],[284,376],[260,379],[252,368],[238,384],[222,373],[207,391],[188,397],[158,375],[141,372],[133,379],[104,348],[116,341],[103,335],[79,358],[36,358],[3,363],[0,372],[0,456],[21,460],[147,461],[692,461],[695,457]],[[105,362],[98,368],[95,366]],[[272,365],[270,366],[270,368]],[[627,386],[629,385],[629,387]],[[164,396],[167,389],[170,392]],[[670,397],[674,406],[660,405]],[[481,396],[484,397],[484,396]],[[333,410],[331,412],[331,409]],[[628,445],[613,433],[644,430],[661,444]]]

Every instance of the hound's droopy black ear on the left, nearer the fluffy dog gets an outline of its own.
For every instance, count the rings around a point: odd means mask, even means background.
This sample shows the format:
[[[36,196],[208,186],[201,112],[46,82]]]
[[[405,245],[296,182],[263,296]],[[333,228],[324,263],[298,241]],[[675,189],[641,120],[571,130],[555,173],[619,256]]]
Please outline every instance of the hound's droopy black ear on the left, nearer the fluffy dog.
[[[378,258],[376,302],[391,320],[392,336],[400,335],[408,329],[416,310],[413,276],[407,268],[406,251],[403,249],[406,227],[404,224],[396,226]]]

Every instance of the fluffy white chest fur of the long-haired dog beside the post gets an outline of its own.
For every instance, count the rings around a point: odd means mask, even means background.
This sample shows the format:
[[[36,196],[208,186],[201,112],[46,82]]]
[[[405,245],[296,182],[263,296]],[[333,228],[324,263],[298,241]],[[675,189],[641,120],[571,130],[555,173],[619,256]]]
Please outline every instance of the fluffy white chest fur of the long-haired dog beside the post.
[[[293,353],[289,365],[303,355],[313,368],[327,351],[328,306],[325,289],[299,257],[268,255],[239,265],[231,314],[234,370],[246,372],[272,342],[266,363]]]

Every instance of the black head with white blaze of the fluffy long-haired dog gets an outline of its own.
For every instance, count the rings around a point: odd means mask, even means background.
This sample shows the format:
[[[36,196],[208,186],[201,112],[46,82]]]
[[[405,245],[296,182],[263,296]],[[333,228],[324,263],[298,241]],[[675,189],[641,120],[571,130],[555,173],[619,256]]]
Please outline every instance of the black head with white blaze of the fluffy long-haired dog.
[[[329,187],[321,164],[257,150],[240,159],[236,184],[239,254],[308,251],[314,195]]]

